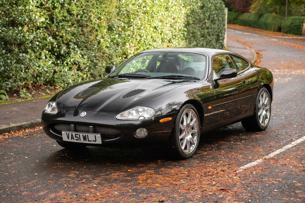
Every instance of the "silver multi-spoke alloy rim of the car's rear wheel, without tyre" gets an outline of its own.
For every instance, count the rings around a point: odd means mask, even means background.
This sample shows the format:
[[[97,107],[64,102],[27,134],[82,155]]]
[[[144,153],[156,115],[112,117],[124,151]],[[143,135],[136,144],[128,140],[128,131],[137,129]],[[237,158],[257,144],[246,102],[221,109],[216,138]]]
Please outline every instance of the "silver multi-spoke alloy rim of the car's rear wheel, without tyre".
[[[260,125],[262,127],[266,126],[270,119],[270,98],[266,91],[260,94],[257,115]]]

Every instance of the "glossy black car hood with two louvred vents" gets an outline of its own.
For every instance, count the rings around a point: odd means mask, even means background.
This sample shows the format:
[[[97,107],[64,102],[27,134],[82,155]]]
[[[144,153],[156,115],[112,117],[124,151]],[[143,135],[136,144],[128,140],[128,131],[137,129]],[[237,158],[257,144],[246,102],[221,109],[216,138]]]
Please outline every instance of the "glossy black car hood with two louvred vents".
[[[187,83],[189,81],[103,78],[62,90],[56,105],[59,110],[120,113]]]

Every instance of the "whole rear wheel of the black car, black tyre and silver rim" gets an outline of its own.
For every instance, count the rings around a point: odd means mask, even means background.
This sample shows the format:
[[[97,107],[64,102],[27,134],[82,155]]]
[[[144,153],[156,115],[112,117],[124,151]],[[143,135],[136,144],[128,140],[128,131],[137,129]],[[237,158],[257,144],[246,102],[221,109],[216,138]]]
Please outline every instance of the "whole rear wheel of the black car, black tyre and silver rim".
[[[253,116],[242,121],[242,126],[246,130],[263,131],[268,127],[271,117],[271,98],[266,88],[261,88],[258,92]]]

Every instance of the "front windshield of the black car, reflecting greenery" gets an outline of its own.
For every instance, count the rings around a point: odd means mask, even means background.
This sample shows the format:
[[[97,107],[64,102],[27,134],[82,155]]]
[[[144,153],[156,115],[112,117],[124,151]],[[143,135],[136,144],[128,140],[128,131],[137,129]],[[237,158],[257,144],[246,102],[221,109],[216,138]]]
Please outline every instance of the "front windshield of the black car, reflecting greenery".
[[[206,56],[185,52],[143,52],[133,55],[108,77],[202,79]]]

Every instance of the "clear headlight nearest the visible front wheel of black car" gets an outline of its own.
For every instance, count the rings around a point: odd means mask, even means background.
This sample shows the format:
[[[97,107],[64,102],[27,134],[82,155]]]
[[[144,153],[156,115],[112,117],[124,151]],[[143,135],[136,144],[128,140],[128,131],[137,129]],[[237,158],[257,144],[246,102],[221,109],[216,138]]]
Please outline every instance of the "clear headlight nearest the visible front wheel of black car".
[[[117,114],[117,119],[122,120],[143,120],[155,115],[155,110],[150,107],[135,107]]]

